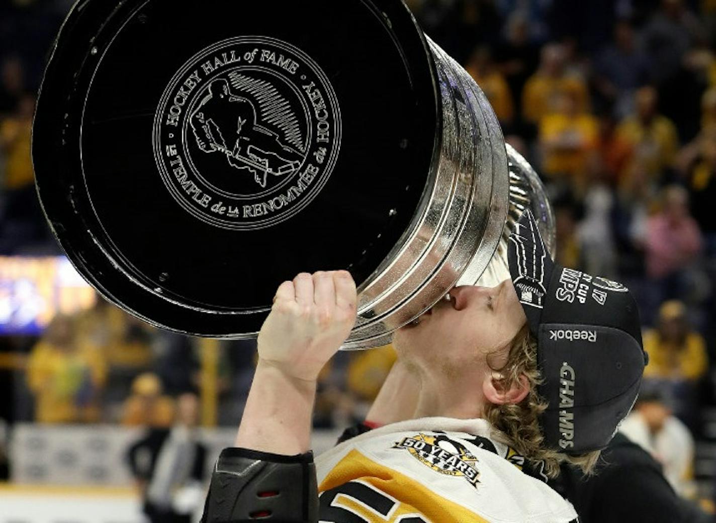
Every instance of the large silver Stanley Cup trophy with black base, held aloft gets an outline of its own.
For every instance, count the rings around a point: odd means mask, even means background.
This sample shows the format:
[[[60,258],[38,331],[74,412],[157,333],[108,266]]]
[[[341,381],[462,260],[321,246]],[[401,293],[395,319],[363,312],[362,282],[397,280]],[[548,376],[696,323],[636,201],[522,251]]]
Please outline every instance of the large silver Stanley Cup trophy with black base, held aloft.
[[[81,0],[34,123],[52,230],[153,325],[251,337],[280,282],[347,269],[345,348],[506,273],[538,177],[401,0]]]

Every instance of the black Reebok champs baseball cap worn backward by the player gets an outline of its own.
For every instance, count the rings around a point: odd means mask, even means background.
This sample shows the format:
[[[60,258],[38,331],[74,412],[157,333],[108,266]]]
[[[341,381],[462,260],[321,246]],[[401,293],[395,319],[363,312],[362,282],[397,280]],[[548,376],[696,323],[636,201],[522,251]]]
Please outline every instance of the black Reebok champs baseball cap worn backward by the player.
[[[537,339],[546,445],[566,454],[606,447],[648,361],[637,302],[622,284],[555,263],[529,210],[510,236],[508,262]]]

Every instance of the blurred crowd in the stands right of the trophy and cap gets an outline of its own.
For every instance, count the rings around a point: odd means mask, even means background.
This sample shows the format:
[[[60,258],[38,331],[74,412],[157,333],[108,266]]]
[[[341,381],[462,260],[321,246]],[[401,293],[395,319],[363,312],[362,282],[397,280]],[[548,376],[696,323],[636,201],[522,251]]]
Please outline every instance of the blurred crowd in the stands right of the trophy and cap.
[[[715,436],[716,2],[412,7],[541,174],[558,261],[636,295],[650,363],[621,431],[696,497],[695,442]]]

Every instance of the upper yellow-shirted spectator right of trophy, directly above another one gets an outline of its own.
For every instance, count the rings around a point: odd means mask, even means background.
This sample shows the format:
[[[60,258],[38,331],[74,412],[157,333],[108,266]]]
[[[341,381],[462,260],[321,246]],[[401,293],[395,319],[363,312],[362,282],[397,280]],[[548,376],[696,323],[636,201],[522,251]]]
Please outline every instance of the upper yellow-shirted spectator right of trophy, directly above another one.
[[[559,44],[542,48],[540,67],[527,80],[522,93],[522,113],[529,123],[538,124],[545,115],[558,112],[563,95],[570,93],[579,113],[589,111],[589,92],[584,80],[564,72],[564,50]]]

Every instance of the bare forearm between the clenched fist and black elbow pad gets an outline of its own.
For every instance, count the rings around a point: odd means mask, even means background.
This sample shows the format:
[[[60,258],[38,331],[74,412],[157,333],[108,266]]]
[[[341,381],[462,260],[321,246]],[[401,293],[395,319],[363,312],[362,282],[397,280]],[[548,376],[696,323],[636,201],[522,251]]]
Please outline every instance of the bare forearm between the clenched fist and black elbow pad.
[[[259,361],[236,435],[236,446],[294,456],[309,451],[316,383]]]

